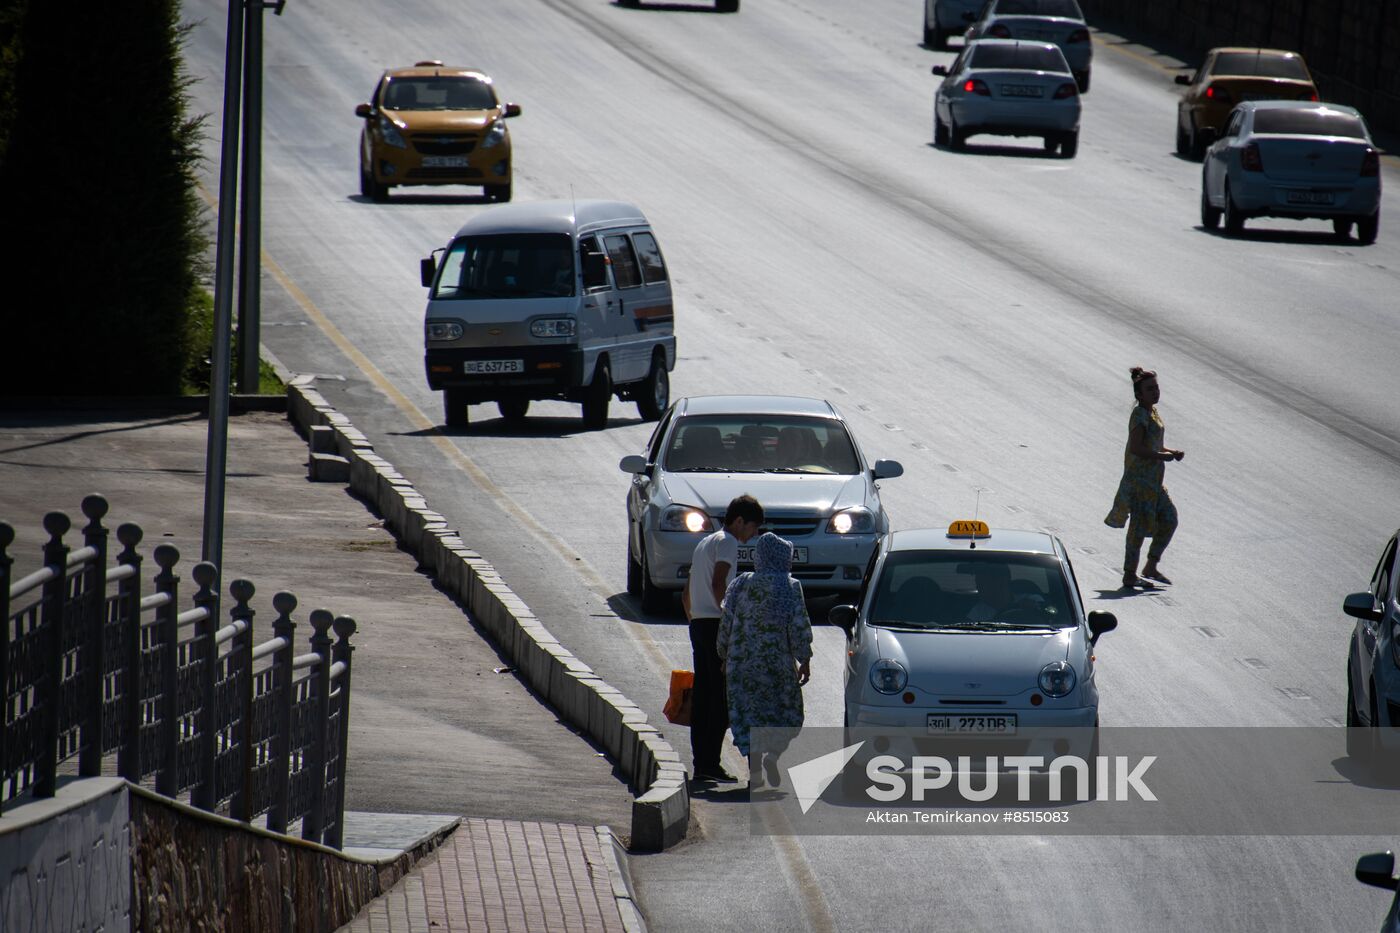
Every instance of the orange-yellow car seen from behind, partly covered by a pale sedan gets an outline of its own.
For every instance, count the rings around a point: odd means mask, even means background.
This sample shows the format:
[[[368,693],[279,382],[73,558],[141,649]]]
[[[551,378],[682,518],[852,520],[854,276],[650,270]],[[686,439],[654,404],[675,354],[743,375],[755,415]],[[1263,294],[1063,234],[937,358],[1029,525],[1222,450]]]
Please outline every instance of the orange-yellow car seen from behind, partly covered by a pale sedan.
[[[1282,49],[1222,48],[1205,53],[1176,104],[1176,154],[1201,158],[1240,101],[1316,101],[1303,56]]]

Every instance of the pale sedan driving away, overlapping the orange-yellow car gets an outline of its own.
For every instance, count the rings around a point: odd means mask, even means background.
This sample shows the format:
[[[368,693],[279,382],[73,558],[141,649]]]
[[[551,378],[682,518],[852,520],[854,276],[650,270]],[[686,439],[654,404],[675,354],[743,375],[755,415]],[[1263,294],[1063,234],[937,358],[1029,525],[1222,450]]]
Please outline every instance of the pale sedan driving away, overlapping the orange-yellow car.
[[[1380,227],[1380,154],[1355,108],[1310,101],[1238,105],[1205,151],[1201,226],[1239,234],[1250,217],[1330,219],[1362,244]]]

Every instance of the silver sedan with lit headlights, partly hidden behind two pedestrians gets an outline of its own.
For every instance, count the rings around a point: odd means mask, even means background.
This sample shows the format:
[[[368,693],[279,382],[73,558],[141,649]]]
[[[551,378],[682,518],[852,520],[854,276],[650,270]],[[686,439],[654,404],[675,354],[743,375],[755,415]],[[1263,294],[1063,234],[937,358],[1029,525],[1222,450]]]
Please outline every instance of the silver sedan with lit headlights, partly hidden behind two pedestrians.
[[[647,450],[619,466],[631,475],[627,591],[647,611],[680,591],[696,544],[745,493],[763,504],[764,527],[792,542],[792,576],[808,595],[855,591],[889,530],[879,481],[904,472],[893,459],[869,464],[830,402],[783,395],[682,398]]]

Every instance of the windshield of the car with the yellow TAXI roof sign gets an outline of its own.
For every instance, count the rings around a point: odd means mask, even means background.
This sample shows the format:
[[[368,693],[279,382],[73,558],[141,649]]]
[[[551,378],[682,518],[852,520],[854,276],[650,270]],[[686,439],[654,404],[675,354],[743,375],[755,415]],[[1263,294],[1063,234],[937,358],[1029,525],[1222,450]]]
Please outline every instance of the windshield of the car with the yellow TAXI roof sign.
[[[896,551],[885,559],[869,623],[986,632],[1072,629],[1060,562],[1044,553]]]

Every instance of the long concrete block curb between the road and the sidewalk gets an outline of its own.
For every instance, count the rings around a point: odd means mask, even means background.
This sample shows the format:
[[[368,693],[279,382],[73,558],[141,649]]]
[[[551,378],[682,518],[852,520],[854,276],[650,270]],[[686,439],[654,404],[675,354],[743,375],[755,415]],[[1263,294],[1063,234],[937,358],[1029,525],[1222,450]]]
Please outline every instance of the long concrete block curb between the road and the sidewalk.
[[[374,504],[399,544],[468,608],[539,696],[608,751],[634,794],[634,850],[661,852],[685,839],[690,822],[685,769],[647,714],[559,643],[496,569],[312,388],[312,378],[287,382],[287,420],[308,440],[312,479],[343,482],[342,471],[330,468],[337,464],[325,457],[343,458],[350,489]]]

